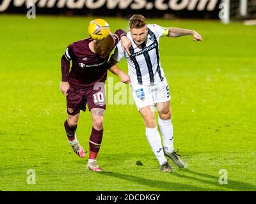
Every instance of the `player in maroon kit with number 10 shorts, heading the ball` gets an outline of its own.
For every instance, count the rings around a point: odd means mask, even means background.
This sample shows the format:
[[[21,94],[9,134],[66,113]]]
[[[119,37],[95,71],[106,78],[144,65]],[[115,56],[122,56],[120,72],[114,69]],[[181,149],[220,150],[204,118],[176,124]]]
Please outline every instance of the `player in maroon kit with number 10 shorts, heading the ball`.
[[[108,73],[109,54],[119,40],[125,50],[129,50],[131,41],[126,37],[125,31],[119,29],[115,34],[109,33],[103,40],[86,38],[71,43],[61,58],[60,89],[63,95],[67,96],[68,117],[64,126],[68,142],[74,152],[83,158],[84,149],[77,141],[76,129],[79,112],[86,110],[87,103],[93,123],[87,168],[92,171],[102,171],[96,159],[102,141],[103,116],[106,110],[104,82]]]

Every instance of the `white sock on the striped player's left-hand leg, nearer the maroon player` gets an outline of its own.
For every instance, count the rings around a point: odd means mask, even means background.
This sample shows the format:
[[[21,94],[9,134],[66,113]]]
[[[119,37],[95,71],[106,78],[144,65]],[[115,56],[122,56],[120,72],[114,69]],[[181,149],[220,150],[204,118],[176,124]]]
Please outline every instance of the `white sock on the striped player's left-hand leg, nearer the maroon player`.
[[[153,150],[154,154],[157,157],[157,160],[159,161],[159,164],[163,164],[166,161],[166,158],[164,157],[161,136],[157,131],[157,127],[146,128],[146,137],[151,149]]]

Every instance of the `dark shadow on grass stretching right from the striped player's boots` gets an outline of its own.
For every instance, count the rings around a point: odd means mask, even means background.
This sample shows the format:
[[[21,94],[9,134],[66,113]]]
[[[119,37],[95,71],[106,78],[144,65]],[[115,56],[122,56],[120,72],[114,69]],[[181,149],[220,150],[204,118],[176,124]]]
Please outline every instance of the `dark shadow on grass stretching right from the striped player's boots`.
[[[191,175],[184,175],[184,172],[191,173],[192,176]],[[232,190],[232,191],[255,191],[256,190],[256,186],[253,186],[252,184],[246,184],[244,182],[240,182],[240,181],[236,181],[236,180],[232,180],[232,179],[228,179],[228,184],[220,185],[219,184],[219,177],[215,177],[213,175],[209,175],[209,174],[206,174],[206,173],[197,173],[197,172],[191,171],[189,169],[180,169],[179,173],[177,171],[175,171],[174,173],[172,173],[172,175],[174,175],[176,177],[184,178],[184,179],[195,180],[197,182],[202,182],[204,184],[214,185],[216,187],[222,187],[223,190],[225,189],[225,191],[228,191],[228,190]],[[199,178],[197,178],[198,176],[199,177],[204,177],[204,178],[207,178],[207,179],[199,179]],[[212,181],[208,180],[208,179],[212,179]]]

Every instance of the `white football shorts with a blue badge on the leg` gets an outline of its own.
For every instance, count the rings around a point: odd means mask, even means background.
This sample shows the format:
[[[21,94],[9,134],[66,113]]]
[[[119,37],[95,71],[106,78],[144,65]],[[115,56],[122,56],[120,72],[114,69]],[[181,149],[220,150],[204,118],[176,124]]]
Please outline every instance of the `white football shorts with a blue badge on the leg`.
[[[171,99],[168,83],[165,79],[163,82],[159,82],[158,84],[152,86],[140,85],[132,82],[130,86],[132,96],[138,110],[145,106],[154,106],[156,103],[163,103],[170,101]]]

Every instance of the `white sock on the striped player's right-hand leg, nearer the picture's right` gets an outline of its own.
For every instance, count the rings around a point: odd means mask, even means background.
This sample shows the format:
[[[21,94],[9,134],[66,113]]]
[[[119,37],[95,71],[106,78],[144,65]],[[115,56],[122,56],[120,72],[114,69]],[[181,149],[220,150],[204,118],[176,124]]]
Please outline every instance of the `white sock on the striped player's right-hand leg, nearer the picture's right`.
[[[158,116],[158,125],[159,130],[161,132],[164,147],[168,152],[172,152],[173,150],[173,127],[172,127],[172,119],[162,120]]]

